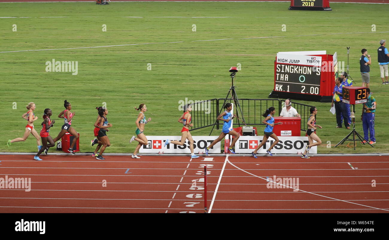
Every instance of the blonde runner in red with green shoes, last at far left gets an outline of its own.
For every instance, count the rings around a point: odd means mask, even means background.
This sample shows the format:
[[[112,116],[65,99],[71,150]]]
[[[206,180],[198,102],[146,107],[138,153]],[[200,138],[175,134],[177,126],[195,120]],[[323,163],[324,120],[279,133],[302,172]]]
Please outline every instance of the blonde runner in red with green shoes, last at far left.
[[[27,113],[22,115],[22,118],[27,120],[27,125],[25,128],[25,133],[23,137],[17,137],[15,139],[9,139],[7,142],[7,147],[11,145],[11,143],[14,142],[20,142],[20,141],[26,141],[27,137],[30,136],[30,133],[37,139],[37,145],[38,145],[38,150],[42,148],[42,145],[40,145],[40,137],[38,132],[34,129],[34,122],[38,119],[38,117],[35,117],[34,110],[36,108],[35,103],[31,102],[27,106]]]

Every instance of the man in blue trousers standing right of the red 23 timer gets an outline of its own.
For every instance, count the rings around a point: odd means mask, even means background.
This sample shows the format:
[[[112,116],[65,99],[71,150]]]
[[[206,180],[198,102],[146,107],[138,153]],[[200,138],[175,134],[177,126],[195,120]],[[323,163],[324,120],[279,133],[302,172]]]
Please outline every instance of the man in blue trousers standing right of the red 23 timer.
[[[375,131],[374,131],[374,120],[375,120],[375,109],[377,106],[377,103],[375,102],[375,98],[371,96],[370,89],[367,90],[367,102],[363,104],[362,108],[362,126],[363,126],[363,143],[367,143],[369,141],[369,135],[370,132],[370,144],[375,144]]]

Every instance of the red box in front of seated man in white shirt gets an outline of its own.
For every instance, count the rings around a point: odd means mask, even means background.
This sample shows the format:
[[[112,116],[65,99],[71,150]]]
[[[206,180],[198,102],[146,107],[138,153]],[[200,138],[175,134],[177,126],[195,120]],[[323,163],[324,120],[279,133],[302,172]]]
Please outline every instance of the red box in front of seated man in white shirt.
[[[274,123],[282,122],[282,124],[275,125],[273,127],[273,132],[277,136],[301,136],[301,118],[293,117],[275,117]]]

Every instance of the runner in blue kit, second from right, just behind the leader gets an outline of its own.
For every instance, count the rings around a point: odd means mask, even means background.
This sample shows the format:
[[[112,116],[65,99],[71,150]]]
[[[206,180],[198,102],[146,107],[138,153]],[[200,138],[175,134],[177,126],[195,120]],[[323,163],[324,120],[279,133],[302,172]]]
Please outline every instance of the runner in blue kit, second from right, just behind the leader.
[[[262,116],[265,117],[265,119],[262,121],[262,123],[265,123],[267,126],[266,126],[265,130],[263,131],[264,134],[263,134],[262,142],[251,153],[254,158],[257,158],[257,156],[256,156],[257,151],[259,150],[259,148],[261,148],[263,146],[263,144],[266,143],[266,141],[269,137],[272,137],[273,139],[275,139],[275,141],[273,142],[272,146],[270,146],[270,148],[268,150],[266,150],[266,153],[268,153],[270,156],[273,156],[273,154],[270,152],[270,150],[272,150],[272,148],[275,146],[275,144],[277,144],[279,142],[277,135],[275,135],[275,133],[273,132],[273,126],[278,125],[278,124],[282,125],[282,122],[274,123],[274,118],[273,118],[274,114],[275,114],[274,107],[270,107],[270,108],[266,109],[266,111],[262,114]]]

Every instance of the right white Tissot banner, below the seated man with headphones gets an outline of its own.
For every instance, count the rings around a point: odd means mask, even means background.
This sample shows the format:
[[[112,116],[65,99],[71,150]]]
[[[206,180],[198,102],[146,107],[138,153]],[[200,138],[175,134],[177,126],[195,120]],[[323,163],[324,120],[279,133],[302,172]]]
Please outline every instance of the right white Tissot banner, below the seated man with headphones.
[[[263,136],[240,136],[235,143],[235,153],[251,153],[262,142]],[[272,153],[300,153],[305,151],[308,145],[308,137],[280,137],[277,145],[271,150]],[[266,153],[274,139],[269,137],[257,153]],[[309,153],[317,153],[317,146],[312,147]]]

